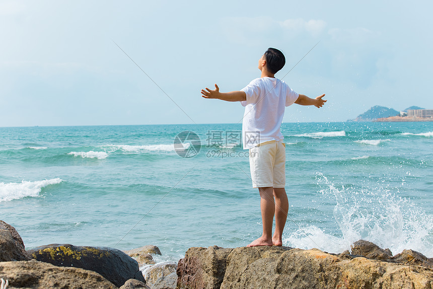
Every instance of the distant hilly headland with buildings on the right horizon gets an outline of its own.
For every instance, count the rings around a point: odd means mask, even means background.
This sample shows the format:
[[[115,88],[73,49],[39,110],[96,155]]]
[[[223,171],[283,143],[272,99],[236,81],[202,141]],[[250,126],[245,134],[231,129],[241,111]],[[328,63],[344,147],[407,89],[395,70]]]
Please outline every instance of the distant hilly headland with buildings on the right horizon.
[[[411,106],[402,111],[397,111],[384,106],[373,106],[363,114],[348,121],[377,121],[377,122],[399,122],[399,121],[433,121],[433,109],[425,109]]]

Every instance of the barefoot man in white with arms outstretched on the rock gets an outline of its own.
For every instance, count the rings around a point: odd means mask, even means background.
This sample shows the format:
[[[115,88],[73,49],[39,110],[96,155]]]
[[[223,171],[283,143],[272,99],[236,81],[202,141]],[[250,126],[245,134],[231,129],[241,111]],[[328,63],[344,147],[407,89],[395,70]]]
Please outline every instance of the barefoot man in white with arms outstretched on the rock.
[[[285,193],[285,144],[280,132],[284,109],[294,103],[323,106],[322,94],[314,99],[294,92],[274,75],[285,64],[281,51],[269,48],[259,59],[261,76],[240,91],[220,92],[201,90],[202,97],[225,101],[240,101],[245,106],[242,122],[244,149],[249,149],[253,188],[260,193],[263,234],[248,247],[282,246],[282,231],[287,219],[288,200]],[[275,215],[275,232],[272,223]]]

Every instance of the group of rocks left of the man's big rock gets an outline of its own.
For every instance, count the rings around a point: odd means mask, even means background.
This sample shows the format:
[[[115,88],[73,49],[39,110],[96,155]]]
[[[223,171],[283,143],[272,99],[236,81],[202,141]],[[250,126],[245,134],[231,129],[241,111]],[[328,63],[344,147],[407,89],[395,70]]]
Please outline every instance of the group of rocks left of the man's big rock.
[[[15,228],[0,221],[0,288],[176,287],[177,264],[155,264],[153,254],[161,255],[158,247],[153,245],[122,252],[107,247],[50,244],[26,251]]]

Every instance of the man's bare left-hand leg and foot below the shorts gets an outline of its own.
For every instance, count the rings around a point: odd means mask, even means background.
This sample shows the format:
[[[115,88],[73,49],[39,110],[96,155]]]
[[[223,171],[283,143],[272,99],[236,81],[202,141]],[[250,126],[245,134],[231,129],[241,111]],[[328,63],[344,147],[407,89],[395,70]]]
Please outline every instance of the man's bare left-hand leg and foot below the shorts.
[[[262,187],[260,192],[260,210],[262,213],[263,234],[247,247],[272,246],[272,223],[275,213],[275,202],[273,199],[273,188]]]

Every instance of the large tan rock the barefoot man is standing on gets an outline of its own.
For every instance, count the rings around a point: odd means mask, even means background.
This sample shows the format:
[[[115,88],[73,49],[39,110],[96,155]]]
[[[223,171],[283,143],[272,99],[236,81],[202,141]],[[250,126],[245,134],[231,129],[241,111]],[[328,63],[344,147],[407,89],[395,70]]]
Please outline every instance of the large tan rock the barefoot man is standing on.
[[[177,288],[433,288],[433,270],[318,249],[190,248]]]

